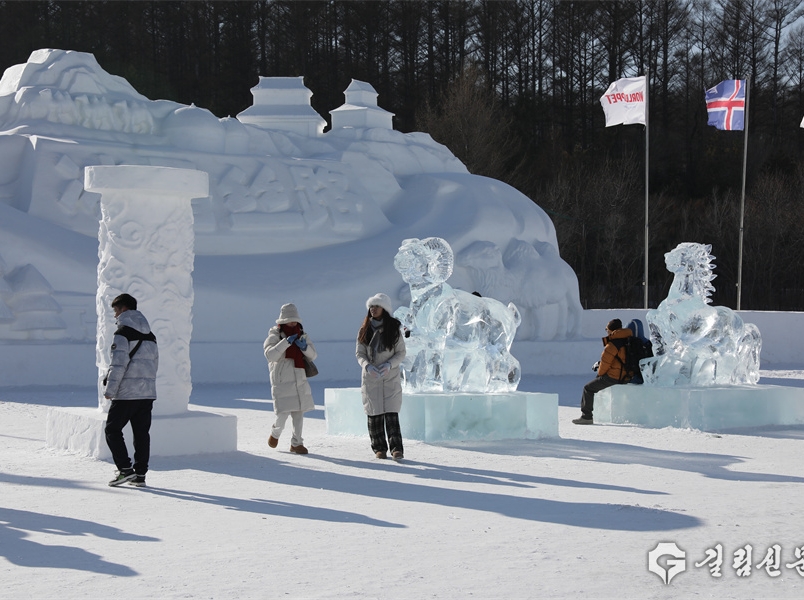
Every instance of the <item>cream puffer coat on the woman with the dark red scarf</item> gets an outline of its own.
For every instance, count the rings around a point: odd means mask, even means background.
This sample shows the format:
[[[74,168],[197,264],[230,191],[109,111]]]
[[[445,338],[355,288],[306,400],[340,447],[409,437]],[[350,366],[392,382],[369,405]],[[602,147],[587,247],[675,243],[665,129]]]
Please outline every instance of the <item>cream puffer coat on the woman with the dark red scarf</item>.
[[[318,354],[315,346],[307,337],[307,348],[302,353],[310,360],[315,360]],[[307,412],[315,408],[313,392],[307,383],[304,369],[297,369],[293,359],[285,358],[285,351],[290,347],[287,336],[282,333],[278,325],[271,327],[268,337],[262,345],[265,358],[268,360],[268,372],[271,375],[271,397],[274,399],[274,412],[292,412],[300,410]]]

